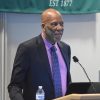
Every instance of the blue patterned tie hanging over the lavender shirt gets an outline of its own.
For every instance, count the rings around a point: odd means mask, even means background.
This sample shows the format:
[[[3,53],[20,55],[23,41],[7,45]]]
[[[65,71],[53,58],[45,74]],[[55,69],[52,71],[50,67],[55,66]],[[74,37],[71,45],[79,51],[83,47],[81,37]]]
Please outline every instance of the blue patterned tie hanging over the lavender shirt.
[[[55,97],[62,96],[62,86],[61,86],[61,75],[60,75],[60,68],[58,62],[58,56],[56,54],[55,46],[51,48],[51,61],[52,61],[52,76],[54,82],[54,89],[55,89]]]

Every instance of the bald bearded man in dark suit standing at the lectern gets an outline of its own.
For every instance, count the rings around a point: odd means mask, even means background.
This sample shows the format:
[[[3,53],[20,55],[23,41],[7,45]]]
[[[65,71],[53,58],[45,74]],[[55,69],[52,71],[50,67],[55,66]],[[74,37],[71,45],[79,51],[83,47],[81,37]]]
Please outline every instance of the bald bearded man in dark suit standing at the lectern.
[[[21,43],[18,47],[8,86],[11,100],[35,100],[38,86],[43,86],[45,100],[64,96],[67,93],[71,81],[71,52],[70,46],[60,41],[64,30],[62,16],[57,10],[49,8],[42,13],[41,21],[42,33]],[[53,79],[54,66],[50,52],[52,46],[56,47],[59,62],[58,64],[56,61],[60,70],[58,71],[60,75],[56,74],[57,79],[60,80],[59,84],[57,83],[59,90]]]

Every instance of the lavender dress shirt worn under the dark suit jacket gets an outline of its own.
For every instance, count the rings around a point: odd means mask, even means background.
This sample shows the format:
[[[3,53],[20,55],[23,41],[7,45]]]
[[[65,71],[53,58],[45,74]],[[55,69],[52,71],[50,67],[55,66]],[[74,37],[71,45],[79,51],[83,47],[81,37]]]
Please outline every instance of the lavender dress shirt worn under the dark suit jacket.
[[[43,33],[42,33],[43,34]],[[42,35],[45,47],[46,47],[46,51],[47,51],[47,55],[48,55],[48,59],[49,59],[49,64],[50,64],[50,68],[51,68],[51,73],[52,73],[52,63],[51,63],[51,54],[50,54],[50,48],[52,47],[52,44],[50,42],[48,42]],[[55,47],[57,48],[57,55],[58,55],[58,61],[59,61],[59,67],[60,67],[60,73],[61,73],[61,84],[62,84],[62,94],[63,96],[66,93],[67,90],[67,67],[64,61],[64,58],[62,56],[62,53],[57,45],[57,43],[55,43]]]

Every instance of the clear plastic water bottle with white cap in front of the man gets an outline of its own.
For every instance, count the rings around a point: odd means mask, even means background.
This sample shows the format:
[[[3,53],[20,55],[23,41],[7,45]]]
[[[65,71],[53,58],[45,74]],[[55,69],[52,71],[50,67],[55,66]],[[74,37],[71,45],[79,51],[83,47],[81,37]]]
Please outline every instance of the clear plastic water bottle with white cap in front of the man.
[[[38,90],[36,92],[36,100],[45,100],[45,93],[42,86],[38,86]]]

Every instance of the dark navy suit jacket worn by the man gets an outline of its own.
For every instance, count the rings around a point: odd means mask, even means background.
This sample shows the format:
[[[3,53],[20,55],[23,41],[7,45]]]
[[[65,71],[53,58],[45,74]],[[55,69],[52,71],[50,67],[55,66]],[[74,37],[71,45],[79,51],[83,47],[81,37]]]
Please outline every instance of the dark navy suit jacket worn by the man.
[[[67,85],[70,78],[70,47],[58,44],[67,66]],[[50,64],[41,35],[19,45],[8,92],[11,100],[35,100],[38,86],[43,86],[46,100],[54,98]]]

